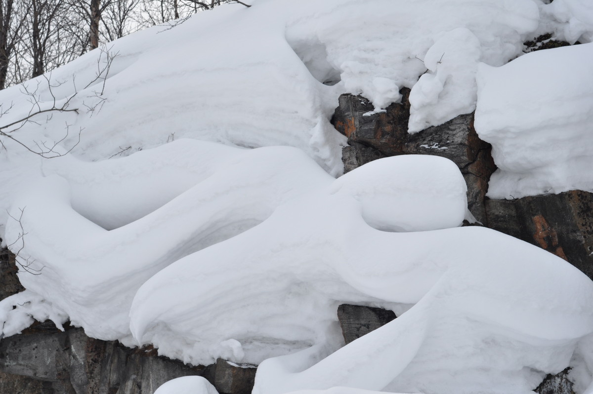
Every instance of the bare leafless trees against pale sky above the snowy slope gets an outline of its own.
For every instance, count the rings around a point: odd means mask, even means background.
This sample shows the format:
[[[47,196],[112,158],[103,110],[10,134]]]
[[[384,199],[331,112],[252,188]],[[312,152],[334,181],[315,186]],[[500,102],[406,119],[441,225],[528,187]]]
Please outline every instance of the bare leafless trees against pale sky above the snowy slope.
[[[0,89],[71,62],[100,42],[239,0],[0,0]]]

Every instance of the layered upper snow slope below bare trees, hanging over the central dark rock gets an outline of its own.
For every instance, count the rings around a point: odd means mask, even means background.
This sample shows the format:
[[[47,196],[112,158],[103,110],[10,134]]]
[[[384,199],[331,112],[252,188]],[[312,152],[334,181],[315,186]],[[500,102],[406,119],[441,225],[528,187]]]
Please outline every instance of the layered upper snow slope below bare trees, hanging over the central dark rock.
[[[48,76],[51,90],[39,77],[1,91],[4,110],[14,103],[2,124],[30,112],[26,86],[37,92],[42,109],[54,98],[58,106],[71,98],[69,108],[79,110],[34,117],[37,123],[14,133],[34,149],[36,143],[51,146],[68,131],[55,147],[66,152],[81,129],[81,142],[71,153],[91,161],[182,137],[248,148],[288,145],[339,175],[345,137],[329,119],[340,94],[362,94],[379,110],[399,100],[400,88],[412,88],[412,132],[471,112],[477,62],[500,66],[521,55],[523,41],[553,18],[543,11],[547,6],[540,4],[538,11],[536,4],[278,0],[256,1],[250,8],[225,5],[169,30],[157,26],[109,43],[108,53],[93,50],[54,70]],[[554,23],[547,26],[559,30],[566,24]],[[9,190],[39,175],[40,168],[39,159],[22,146],[3,142],[0,182],[7,187],[0,190],[1,222],[7,219]]]

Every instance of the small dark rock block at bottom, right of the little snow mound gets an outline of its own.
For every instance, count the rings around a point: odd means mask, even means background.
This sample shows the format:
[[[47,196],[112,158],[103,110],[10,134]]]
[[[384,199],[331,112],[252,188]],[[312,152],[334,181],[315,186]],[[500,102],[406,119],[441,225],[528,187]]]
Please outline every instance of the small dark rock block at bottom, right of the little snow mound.
[[[250,394],[256,379],[256,366],[238,366],[219,358],[206,376],[221,394]]]

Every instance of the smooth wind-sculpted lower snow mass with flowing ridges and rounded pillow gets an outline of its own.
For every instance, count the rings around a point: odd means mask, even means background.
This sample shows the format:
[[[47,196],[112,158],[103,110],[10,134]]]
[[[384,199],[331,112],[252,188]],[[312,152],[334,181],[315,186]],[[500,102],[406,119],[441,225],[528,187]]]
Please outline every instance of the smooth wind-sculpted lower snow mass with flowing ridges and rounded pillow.
[[[288,147],[178,140],[74,160],[45,166],[11,210],[21,220],[8,242],[43,269],[0,303],[7,335],[31,322],[18,303],[192,364],[263,361],[258,394],[526,393],[592,331],[584,274],[493,230],[455,228],[466,185],[448,159],[385,158],[337,180]],[[401,316],[338,350],[343,302]]]

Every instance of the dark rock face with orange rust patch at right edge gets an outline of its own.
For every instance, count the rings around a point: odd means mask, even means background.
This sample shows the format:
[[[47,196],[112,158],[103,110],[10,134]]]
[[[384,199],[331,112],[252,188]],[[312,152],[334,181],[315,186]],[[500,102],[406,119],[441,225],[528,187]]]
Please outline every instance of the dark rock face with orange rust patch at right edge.
[[[593,193],[486,200],[488,226],[568,260],[593,278]]]

